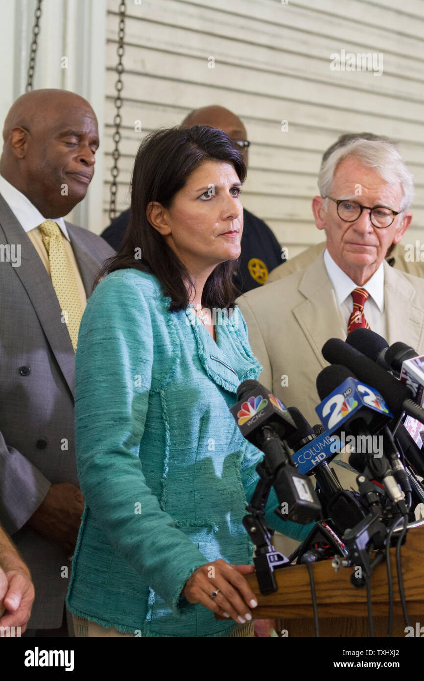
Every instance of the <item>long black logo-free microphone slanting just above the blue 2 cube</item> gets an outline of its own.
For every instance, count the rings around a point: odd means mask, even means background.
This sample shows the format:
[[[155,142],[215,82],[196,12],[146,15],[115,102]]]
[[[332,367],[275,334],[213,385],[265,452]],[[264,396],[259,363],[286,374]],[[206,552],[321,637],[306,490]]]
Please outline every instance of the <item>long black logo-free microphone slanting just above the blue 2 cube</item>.
[[[424,421],[424,409],[421,409],[414,400],[408,387],[401,381],[397,381],[387,371],[377,366],[372,360],[353,347],[344,343],[340,338],[330,338],[323,345],[323,357],[327,362],[343,366],[353,371],[359,380],[371,383],[381,393],[387,402],[390,411],[395,418],[402,416],[404,411],[419,421]]]

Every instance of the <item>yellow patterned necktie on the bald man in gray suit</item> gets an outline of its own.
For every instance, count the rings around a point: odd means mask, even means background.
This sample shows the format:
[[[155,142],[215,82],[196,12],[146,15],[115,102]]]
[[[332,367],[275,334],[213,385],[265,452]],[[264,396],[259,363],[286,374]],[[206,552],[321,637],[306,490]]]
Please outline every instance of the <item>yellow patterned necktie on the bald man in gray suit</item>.
[[[38,228],[48,252],[52,285],[62,310],[61,321],[66,323],[72,345],[76,350],[82,307],[75,272],[66,252],[59,225],[53,220],[45,220]]]

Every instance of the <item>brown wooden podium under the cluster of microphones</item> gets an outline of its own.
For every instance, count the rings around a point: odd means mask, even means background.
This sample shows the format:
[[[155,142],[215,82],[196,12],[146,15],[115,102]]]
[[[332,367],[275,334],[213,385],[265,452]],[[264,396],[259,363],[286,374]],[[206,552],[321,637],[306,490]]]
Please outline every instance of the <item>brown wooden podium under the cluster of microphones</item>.
[[[404,592],[410,625],[424,626],[424,526],[408,530],[401,550]],[[365,586],[356,588],[350,582],[353,568],[340,567],[338,572],[331,560],[313,563],[316,602],[321,636],[368,637],[367,594]],[[393,584],[393,636],[405,636],[405,623],[397,586],[395,549],[391,549]],[[306,565],[292,565],[275,571],[278,590],[264,596],[259,592],[255,574],[245,575],[257,595],[258,606],[252,608],[255,619],[277,618],[279,633],[287,630],[289,637],[314,636],[314,615],[310,581]],[[371,577],[372,616],[374,635],[387,636],[389,595],[386,563],[380,563]]]

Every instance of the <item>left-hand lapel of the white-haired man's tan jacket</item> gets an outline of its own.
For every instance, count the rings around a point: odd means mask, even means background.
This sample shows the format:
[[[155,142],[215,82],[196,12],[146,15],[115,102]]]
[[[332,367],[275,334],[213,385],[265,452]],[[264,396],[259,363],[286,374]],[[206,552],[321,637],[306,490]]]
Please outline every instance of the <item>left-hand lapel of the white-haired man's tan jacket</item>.
[[[322,253],[306,268],[299,283],[299,291],[306,300],[293,308],[293,314],[317,360],[325,367],[327,362],[321,354],[325,341],[329,338],[345,340],[346,330]]]

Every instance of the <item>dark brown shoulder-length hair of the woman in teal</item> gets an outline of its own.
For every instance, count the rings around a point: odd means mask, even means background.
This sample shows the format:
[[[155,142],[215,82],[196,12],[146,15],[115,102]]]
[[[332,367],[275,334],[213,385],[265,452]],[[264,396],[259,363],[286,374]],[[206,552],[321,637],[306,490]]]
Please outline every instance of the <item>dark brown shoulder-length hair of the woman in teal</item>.
[[[233,147],[223,130],[207,125],[174,127],[154,131],[143,140],[135,157],[131,180],[129,225],[118,253],[103,264],[94,287],[110,272],[135,268],[157,276],[165,296],[171,298],[170,311],[186,308],[193,282],[163,236],[150,225],[146,208],[151,201],[169,208],[193,170],[203,161],[210,160],[231,163],[240,182],[246,179],[242,154]],[[141,256],[137,259],[139,253]],[[233,307],[236,296],[233,270],[237,264],[238,260],[231,260],[216,266],[203,287],[203,307]]]

